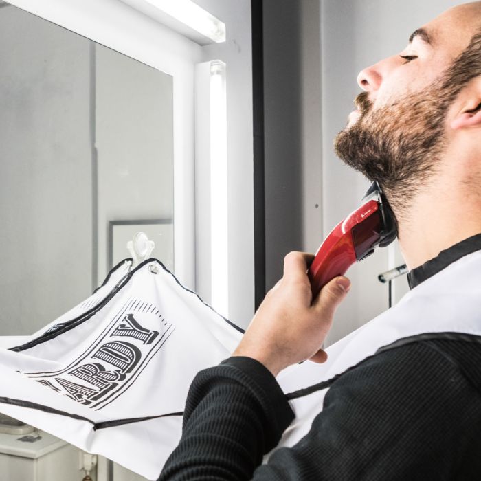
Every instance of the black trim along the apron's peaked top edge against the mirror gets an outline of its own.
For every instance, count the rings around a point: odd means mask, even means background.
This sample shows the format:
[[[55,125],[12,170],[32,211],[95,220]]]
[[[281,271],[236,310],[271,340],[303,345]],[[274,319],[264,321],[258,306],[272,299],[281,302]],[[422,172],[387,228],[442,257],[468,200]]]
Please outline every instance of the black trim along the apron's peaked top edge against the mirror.
[[[123,260],[122,262],[126,262],[127,260],[129,259],[125,259]],[[111,275],[111,273],[113,273],[113,271],[115,271],[115,269],[118,269],[118,267],[120,267],[120,265],[122,265],[122,262],[119,262],[119,264],[117,266],[114,267],[114,269],[112,269],[112,271],[109,273],[109,276]],[[202,304],[204,304],[205,306],[208,306],[208,308],[213,311],[214,313],[216,313],[217,315],[219,315],[220,317],[222,317],[223,320],[225,320],[225,322],[227,322],[227,324],[230,324],[230,326],[232,326],[233,328],[235,328],[237,331],[239,331],[240,333],[245,333],[244,329],[243,328],[240,328],[239,326],[236,326],[236,324],[234,324],[233,322],[231,322],[230,320],[227,320],[223,315],[219,314],[218,312],[216,312],[212,306],[210,306],[209,304],[203,302],[203,300],[200,298],[199,294],[197,294],[196,292],[194,291],[191,291],[190,289],[187,289],[187,287],[184,287],[180,282],[179,280],[174,276],[174,274],[172,272],[170,272],[167,267],[162,264],[162,262],[160,262],[160,260],[157,260],[155,258],[150,258],[150,259],[147,259],[147,260],[144,260],[144,262],[142,262],[141,264],[139,264],[137,267],[135,267],[135,269],[132,269],[126,276],[124,276],[119,282],[118,284],[112,289],[112,291],[107,294],[107,296],[101,301],[99,302],[96,306],[93,306],[91,309],[89,309],[88,311],[85,311],[85,313],[83,313],[82,315],[74,318],[73,320],[70,320],[70,321],[66,321],[65,323],[63,323],[64,325],[58,329],[56,329],[55,331],[52,331],[51,333],[45,333],[39,337],[37,337],[36,339],[32,339],[32,341],[29,341],[25,344],[22,344],[21,346],[15,346],[13,348],[10,348],[10,350],[14,351],[15,353],[19,353],[23,350],[26,350],[26,349],[30,349],[30,348],[33,348],[34,346],[37,346],[38,344],[42,344],[43,342],[46,342],[46,341],[49,341],[51,339],[55,339],[55,337],[57,337],[58,335],[61,335],[63,333],[66,333],[67,331],[70,331],[71,329],[73,329],[74,327],[76,326],[79,326],[80,324],[82,324],[83,322],[89,320],[91,317],[93,317],[93,315],[95,315],[96,313],[98,313],[98,311],[100,311],[100,309],[102,309],[106,304],[109,303],[109,301],[115,296],[117,295],[125,286],[126,284],[131,280],[131,278],[133,277],[133,275],[135,274],[135,272],[139,271],[140,269],[142,269],[142,267],[144,267],[144,265],[147,265],[147,264],[150,264],[150,262],[157,262],[157,264],[162,268],[164,269],[164,271],[166,271],[167,273],[170,274],[170,276],[172,276],[172,278],[174,278],[175,282],[177,282],[177,284],[179,284],[179,286],[184,289],[185,291],[191,293],[191,294],[194,294],[201,302]],[[109,277],[107,276],[107,277]],[[105,284],[105,282],[104,282]],[[102,284],[103,285],[103,284]]]

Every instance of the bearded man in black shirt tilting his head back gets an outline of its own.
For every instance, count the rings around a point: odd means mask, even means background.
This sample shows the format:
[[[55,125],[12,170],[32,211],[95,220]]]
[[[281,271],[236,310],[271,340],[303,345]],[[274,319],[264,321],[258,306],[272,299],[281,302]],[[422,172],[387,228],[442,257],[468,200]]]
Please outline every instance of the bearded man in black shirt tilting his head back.
[[[320,346],[349,281],[312,299],[312,256],[289,254],[232,357],[194,379],[160,480],[480,478],[480,29],[481,2],[460,5],[361,71],[364,92],[335,141],[390,202],[410,293],[333,346],[335,375],[294,414],[276,376],[326,361]],[[289,447],[260,465],[281,437]]]

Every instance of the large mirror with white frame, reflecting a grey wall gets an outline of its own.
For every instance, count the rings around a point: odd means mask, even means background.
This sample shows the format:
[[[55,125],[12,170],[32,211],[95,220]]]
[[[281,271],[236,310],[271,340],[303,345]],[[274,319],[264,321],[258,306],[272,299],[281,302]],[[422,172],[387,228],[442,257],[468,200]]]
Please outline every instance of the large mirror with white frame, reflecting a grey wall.
[[[173,269],[172,77],[5,3],[0,39],[0,335],[28,335],[139,230]]]

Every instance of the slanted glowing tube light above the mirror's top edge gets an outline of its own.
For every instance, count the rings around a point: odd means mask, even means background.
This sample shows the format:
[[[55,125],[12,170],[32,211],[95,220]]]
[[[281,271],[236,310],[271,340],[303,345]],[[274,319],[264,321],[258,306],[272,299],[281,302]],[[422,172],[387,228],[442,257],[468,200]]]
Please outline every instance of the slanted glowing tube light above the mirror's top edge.
[[[225,42],[225,23],[192,0],[122,0],[200,45]]]

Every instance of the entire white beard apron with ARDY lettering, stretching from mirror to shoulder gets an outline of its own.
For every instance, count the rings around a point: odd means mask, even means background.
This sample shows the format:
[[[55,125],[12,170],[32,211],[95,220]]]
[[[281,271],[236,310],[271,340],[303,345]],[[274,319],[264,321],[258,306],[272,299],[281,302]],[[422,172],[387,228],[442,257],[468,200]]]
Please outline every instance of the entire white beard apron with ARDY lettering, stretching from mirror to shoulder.
[[[0,412],[154,480],[181,437],[192,379],[229,357],[242,333],[159,261],[130,273],[129,265],[22,346],[0,348]],[[281,372],[284,392],[320,385],[288,395],[296,417],[278,447],[309,431],[333,378],[379,348],[439,333],[481,335],[480,304],[478,251],[329,347],[326,363]]]

